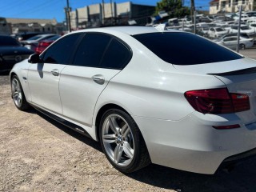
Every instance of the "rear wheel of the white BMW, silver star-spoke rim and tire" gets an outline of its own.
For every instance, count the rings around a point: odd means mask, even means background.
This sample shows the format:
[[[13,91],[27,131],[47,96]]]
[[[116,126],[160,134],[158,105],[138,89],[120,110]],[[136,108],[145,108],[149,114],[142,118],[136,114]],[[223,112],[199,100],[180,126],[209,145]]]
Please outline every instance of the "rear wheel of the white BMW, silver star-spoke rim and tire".
[[[114,127],[120,128],[115,129],[119,130],[120,134],[114,134],[114,131],[110,126],[110,121],[113,121],[115,125],[118,125]],[[112,125],[114,125],[113,122]],[[106,135],[116,136],[111,136],[112,138],[109,138],[106,137]],[[119,136],[122,138],[118,138]],[[105,138],[104,142],[103,137]],[[146,144],[142,138],[142,134],[138,130],[138,126],[134,122],[134,119],[131,118],[129,114],[126,114],[126,112],[118,109],[107,110],[106,113],[103,114],[100,122],[99,138],[102,145],[102,150],[106,155],[106,158],[109,160],[112,166],[114,166],[115,169],[121,171],[122,173],[131,173],[150,164],[150,155],[146,149]],[[110,141],[111,143],[106,141]],[[129,143],[130,148],[127,147],[127,143]],[[115,155],[115,151],[118,146],[120,146],[120,149],[122,149],[118,150],[122,151],[120,153],[120,158],[116,158]],[[127,153],[127,151],[132,151],[132,149],[134,153],[133,157],[130,158],[132,153]],[[115,162],[114,159],[119,160],[118,162]]]

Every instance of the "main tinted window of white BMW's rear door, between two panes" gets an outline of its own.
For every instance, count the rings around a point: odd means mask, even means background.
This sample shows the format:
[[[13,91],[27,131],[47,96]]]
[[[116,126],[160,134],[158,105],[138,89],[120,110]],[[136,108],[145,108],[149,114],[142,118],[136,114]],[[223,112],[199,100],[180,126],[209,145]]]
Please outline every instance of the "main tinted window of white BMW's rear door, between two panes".
[[[98,67],[111,37],[106,34],[86,34],[74,56],[75,66]]]

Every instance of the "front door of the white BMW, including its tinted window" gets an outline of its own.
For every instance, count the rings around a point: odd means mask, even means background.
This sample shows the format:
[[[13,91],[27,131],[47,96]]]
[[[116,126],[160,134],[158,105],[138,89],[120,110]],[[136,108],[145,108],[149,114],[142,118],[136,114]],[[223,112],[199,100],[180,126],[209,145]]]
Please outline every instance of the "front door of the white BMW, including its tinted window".
[[[31,102],[46,110],[62,114],[59,79],[81,34],[72,34],[49,47],[40,58],[42,63],[31,64],[28,70]]]

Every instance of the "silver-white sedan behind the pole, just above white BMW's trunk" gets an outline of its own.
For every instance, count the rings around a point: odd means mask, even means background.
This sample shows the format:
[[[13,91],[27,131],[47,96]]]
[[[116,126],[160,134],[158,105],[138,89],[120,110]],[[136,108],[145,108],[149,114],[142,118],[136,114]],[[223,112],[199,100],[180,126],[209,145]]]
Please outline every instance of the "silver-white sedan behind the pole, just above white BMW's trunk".
[[[222,40],[217,42],[220,45],[226,46],[232,50],[235,50],[238,45],[238,37],[233,36],[233,37],[226,37],[222,38]],[[242,38],[240,37],[239,39],[239,49],[244,50],[246,48],[250,48],[254,46],[254,39],[253,38]]]

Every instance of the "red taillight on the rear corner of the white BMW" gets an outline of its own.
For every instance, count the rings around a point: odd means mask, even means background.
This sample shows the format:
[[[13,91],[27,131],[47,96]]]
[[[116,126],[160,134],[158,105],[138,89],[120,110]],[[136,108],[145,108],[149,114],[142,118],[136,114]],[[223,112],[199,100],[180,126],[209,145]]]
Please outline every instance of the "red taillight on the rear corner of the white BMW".
[[[186,91],[185,97],[194,110],[202,114],[230,114],[250,110],[246,94],[230,94],[226,88]]]

